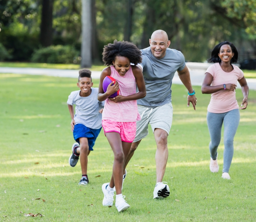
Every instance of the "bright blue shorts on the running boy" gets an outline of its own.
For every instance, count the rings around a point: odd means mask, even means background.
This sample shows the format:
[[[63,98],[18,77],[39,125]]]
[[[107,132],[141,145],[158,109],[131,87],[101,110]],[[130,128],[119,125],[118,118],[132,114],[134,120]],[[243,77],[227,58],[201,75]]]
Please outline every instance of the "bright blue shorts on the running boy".
[[[78,123],[74,127],[73,136],[78,143],[79,138],[86,137],[88,139],[89,150],[93,150],[92,147],[94,146],[95,140],[100,132],[101,128],[95,130]]]

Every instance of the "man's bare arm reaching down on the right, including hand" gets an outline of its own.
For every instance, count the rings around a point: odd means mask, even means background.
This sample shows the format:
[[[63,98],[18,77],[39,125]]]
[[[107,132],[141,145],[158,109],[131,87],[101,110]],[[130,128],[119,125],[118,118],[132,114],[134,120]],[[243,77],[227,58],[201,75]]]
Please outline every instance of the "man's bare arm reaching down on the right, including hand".
[[[185,66],[184,69],[182,69],[181,71],[177,71],[178,72],[178,76],[180,77],[180,80],[182,81],[182,83],[184,84],[184,86],[187,88],[189,93],[193,93],[193,88],[191,85],[191,80],[190,80],[190,74],[188,71],[188,67]],[[190,102],[192,103],[194,110],[196,110],[196,105],[197,105],[197,97],[195,97],[194,95],[188,95],[188,107],[190,105]]]

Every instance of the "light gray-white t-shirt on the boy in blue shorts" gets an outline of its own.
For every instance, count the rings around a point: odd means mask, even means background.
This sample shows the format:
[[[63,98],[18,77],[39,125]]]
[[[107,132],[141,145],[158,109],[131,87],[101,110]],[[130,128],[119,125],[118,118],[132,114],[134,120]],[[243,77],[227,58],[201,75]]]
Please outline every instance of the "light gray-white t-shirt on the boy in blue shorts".
[[[81,123],[91,129],[101,128],[102,114],[99,110],[103,108],[104,102],[99,102],[98,88],[91,88],[91,95],[81,97],[80,90],[71,92],[68,96],[67,104],[76,105],[74,121]]]

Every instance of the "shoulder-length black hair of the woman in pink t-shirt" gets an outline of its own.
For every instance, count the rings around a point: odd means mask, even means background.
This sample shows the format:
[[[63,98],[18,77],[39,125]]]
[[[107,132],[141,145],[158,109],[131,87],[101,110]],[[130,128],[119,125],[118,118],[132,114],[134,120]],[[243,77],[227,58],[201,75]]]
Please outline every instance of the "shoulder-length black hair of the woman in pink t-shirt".
[[[225,41],[222,43],[217,44],[214,48],[213,51],[211,51],[211,58],[208,59],[208,62],[221,62],[220,57],[218,56],[218,53],[220,53],[220,48],[223,45],[230,45],[231,49],[232,49],[232,53],[234,53],[233,58],[230,61],[230,64],[232,64],[233,62],[237,62],[238,59],[238,51],[236,49],[236,47],[234,46],[233,43],[230,43],[229,41]]]

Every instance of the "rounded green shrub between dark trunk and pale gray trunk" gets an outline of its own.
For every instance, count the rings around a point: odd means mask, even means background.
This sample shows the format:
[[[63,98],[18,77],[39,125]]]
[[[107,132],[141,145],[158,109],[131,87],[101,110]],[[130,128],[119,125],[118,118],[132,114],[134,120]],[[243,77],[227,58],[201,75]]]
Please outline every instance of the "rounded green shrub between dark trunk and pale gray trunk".
[[[32,62],[70,64],[78,61],[79,51],[73,46],[57,45],[41,48],[33,53]]]

